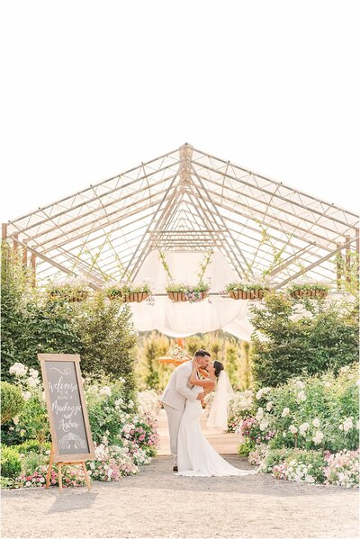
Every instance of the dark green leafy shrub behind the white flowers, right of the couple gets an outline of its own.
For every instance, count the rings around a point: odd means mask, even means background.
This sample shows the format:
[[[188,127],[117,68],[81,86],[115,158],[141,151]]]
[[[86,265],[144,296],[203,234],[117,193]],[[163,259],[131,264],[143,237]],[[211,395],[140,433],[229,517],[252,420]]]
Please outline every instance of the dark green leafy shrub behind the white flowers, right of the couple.
[[[297,306],[309,316],[293,319]],[[257,388],[278,386],[303,373],[338,373],[358,357],[357,313],[351,304],[327,303],[321,298],[292,301],[280,292],[266,295],[261,308],[250,307],[251,359]]]

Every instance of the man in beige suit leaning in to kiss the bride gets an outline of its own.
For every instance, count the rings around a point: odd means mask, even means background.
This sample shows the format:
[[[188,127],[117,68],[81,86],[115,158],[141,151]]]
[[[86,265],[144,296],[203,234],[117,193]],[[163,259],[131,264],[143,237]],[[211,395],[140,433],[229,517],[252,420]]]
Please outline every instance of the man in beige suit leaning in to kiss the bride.
[[[196,394],[191,391],[192,386],[188,383],[190,374],[193,372],[193,362],[196,361],[203,369],[209,363],[210,357],[211,355],[209,352],[206,352],[206,350],[202,350],[202,348],[196,350],[192,360],[185,361],[175,368],[161,397],[167,416],[174,472],[177,472],[177,436],[179,433],[180,421],[184,414],[186,400],[202,400],[205,397],[203,391],[196,396]]]

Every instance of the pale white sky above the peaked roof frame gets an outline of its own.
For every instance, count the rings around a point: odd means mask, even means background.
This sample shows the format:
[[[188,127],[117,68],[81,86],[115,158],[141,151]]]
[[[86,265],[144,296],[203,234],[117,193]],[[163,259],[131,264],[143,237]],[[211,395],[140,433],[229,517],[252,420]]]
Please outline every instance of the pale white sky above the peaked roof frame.
[[[2,2],[1,220],[184,142],[356,211],[356,4]]]

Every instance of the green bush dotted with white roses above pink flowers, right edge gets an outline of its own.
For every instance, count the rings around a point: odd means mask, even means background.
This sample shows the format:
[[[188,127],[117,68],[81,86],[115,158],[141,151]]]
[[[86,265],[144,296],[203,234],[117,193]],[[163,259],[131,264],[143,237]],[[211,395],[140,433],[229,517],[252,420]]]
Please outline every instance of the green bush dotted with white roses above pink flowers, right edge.
[[[335,376],[293,379],[277,388],[257,391],[257,418],[265,432],[275,433],[271,449],[356,450],[359,443],[357,365]],[[255,413],[255,412],[253,412]]]

